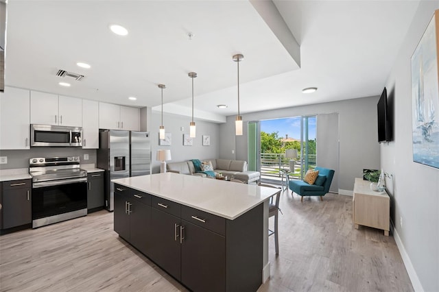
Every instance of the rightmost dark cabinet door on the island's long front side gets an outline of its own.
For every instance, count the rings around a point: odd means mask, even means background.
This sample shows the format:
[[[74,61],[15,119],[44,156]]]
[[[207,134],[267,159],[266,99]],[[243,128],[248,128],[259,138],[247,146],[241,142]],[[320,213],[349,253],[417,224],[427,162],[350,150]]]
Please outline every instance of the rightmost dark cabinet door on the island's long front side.
[[[185,220],[181,282],[192,291],[226,290],[226,239]]]

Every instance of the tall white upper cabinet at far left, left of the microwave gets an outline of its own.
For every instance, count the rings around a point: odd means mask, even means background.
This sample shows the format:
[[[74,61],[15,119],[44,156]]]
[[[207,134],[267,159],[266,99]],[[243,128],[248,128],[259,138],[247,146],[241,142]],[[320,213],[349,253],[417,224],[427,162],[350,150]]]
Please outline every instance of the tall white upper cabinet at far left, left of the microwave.
[[[0,93],[0,149],[29,149],[29,90],[5,87]]]

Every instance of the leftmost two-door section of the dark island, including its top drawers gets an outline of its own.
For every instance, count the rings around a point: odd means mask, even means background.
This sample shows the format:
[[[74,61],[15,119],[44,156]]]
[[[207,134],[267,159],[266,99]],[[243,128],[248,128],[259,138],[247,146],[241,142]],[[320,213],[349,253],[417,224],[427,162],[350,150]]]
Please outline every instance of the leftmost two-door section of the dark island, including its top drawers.
[[[149,253],[151,196],[123,186],[115,187],[114,229],[143,254]]]

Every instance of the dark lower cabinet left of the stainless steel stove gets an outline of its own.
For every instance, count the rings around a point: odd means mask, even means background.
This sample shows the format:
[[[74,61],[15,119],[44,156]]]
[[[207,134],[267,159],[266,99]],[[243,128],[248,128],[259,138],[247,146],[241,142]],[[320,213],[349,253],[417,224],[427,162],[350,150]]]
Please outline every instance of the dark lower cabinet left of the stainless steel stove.
[[[30,180],[2,183],[1,229],[32,223],[32,186]]]

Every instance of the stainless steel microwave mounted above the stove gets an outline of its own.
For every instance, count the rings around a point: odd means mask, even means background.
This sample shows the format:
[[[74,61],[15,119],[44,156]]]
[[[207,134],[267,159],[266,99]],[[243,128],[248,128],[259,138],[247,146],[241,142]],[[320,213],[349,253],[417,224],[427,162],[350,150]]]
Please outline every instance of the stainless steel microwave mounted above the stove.
[[[32,147],[82,147],[82,127],[30,125]]]

